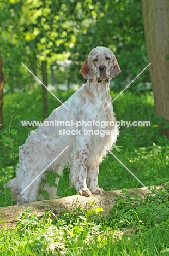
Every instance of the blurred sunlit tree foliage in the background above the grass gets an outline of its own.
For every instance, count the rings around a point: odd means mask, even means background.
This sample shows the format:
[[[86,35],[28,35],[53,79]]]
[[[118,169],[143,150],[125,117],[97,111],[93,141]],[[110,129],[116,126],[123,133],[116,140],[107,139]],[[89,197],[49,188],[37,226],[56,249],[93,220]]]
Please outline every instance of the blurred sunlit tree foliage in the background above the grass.
[[[141,1],[4,0],[0,24],[6,90],[34,86],[21,62],[40,78],[42,60],[47,60],[49,83],[51,69],[54,83],[80,83],[79,69],[95,46],[110,47],[117,56],[122,73],[113,79],[114,90],[123,89],[147,66]],[[147,69],[128,90],[150,90],[148,82]]]

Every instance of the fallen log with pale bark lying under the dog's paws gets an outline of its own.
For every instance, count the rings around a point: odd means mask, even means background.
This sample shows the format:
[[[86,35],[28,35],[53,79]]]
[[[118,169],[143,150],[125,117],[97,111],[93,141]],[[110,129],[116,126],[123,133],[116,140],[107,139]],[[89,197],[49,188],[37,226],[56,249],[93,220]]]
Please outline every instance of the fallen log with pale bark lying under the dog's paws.
[[[160,189],[165,186],[158,186]],[[17,220],[21,214],[27,209],[31,210],[32,213],[38,213],[40,217],[43,217],[47,211],[51,211],[55,216],[60,216],[63,210],[73,211],[76,208],[82,207],[83,210],[92,209],[91,202],[94,201],[94,208],[103,208],[104,211],[99,212],[102,216],[110,214],[110,209],[116,204],[118,196],[123,190],[105,191],[104,196],[92,195],[91,197],[85,196],[68,196],[61,197],[52,200],[37,201],[32,203],[25,203],[23,205],[15,205],[0,208],[0,229],[14,228]],[[140,197],[146,196],[148,191],[145,188],[135,188],[126,190],[129,194],[134,195],[135,193]],[[149,193],[148,193],[149,194]]]

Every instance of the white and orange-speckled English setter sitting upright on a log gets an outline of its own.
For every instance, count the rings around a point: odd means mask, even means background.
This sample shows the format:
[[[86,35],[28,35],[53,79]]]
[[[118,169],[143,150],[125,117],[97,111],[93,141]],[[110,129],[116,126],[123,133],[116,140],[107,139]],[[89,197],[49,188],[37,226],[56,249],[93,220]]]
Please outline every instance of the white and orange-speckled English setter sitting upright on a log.
[[[120,73],[120,68],[109,48],[96,47],[90,51],[80,72],[87,79],[86,84],[53,110],[19,147],[16,177],[6,185],[13,197],[17,197],[18,205],[43,199],[38,197],[38,191],[46,167],[59,175],[65,166],[69,167],[70,183],[79,195],[104,194],[98,186],[99,165],[118,137],[110,104],[110,80]],[[60,121],[62,127],[46,126],[50,121]],[[58,182],[56,178],[55,183]],[[49,199],[56,198],[55,187],[46,183],[43,189],[48,191]]]

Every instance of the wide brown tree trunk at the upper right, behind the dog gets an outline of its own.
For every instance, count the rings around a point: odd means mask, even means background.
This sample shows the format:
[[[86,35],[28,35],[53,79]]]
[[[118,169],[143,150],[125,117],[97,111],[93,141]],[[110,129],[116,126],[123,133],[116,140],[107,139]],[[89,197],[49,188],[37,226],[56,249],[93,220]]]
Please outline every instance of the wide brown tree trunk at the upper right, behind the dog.
[[[142,0],[142,8],[155,111],[169,121],[169,1]]]

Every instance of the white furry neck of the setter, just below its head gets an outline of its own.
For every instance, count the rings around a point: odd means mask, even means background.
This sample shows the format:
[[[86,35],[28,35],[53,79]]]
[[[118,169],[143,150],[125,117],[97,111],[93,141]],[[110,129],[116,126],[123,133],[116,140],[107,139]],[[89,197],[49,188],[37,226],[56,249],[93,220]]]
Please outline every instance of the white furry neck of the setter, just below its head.
[[[86,89],[90,91],[90,95],[101,101],[111,101],[110,82],[108,80],[88,80]]]

